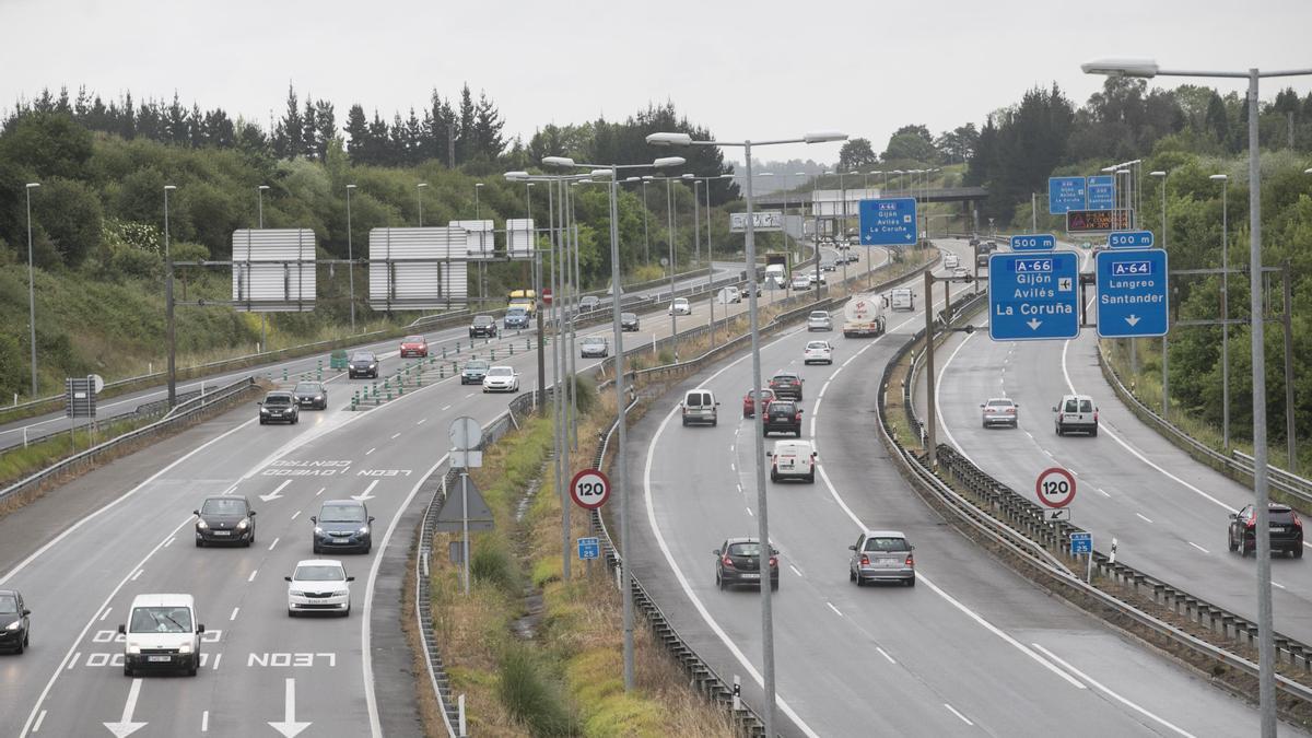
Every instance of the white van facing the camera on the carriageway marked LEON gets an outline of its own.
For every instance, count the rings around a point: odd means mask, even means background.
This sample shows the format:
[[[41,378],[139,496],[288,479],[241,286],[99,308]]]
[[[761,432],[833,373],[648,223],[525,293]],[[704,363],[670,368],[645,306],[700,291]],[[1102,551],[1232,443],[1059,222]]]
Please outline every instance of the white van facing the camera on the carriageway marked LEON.
[[[195,676],[201,667],[201,633],[192,595],[136,595],[127,611],[123,636],[123,676],[138,670],[178,670]]]

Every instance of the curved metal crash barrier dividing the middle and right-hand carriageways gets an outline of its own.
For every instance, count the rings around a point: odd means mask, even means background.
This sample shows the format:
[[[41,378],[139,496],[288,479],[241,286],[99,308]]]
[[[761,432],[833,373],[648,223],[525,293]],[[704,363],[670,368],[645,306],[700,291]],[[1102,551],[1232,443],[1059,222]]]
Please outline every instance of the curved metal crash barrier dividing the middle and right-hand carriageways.
[[[967,315],[966,311],[956,314],[959,320]],[[886,446],[901,464],[908,479],[929,499],[939,503],[935,507],[949,510],[967,527],[1018,555],[1027,570],[1038,575],[1035,579],[1042,579],[1077,604],[1084,603],[1085,609],[1092,615],[1122,628],[1127,621],[1132,622],[1148,632],[1152,636],[1148,641],[1156,646],[1183,649],[1204,662],[1220,662],[1256,678],[1258,674],[1257,663],[1245,658],[1239,650],[1239,646],[1256,650],[1258,636],[1256,622],[1118,562],[1114,557],[1093,552],[1090,557],[1092,575],[1128,590],[1134,595],[1151,597],[1155,605],[1169,611],[1174,617],[1202,626],[1208,634],[1219,637],[1223,645],[1218,646],[1176,628],[1134,604],[1094,587],[1061,563],[1059,557],[1072,561],[1068,558],[1071,536],[1072,533],[1082,533],[1081,528],[1065,520],[1047,520],[1043,508],[976,467],[950,445],[939,444],[937,446],[939,466],[956,483],[968,490],[970,496],[962,495],[930,470],[928,456],[916,454],[901,445],[886,412],[890,382],[896,366],[917,344],[924,341],[924,330],[921,330],[897,349],[884,366],[879,385],[880,435]],[[920,357],[913,364],[918,365],[918,360]],[[912,402],[913,393],[909,389],[914,386],[913,372],[914,366],[908,370],[903,382],[903,407],[913,427],[920,427]],[[1279,633],[1275,634],[1274,641],[1278,662],[1298,668],[1304,676],[1312,674],[1312,647]],[[1284,675],[1277,674],[1277,688],[1298,703],[1312,703],[1312,688]]]

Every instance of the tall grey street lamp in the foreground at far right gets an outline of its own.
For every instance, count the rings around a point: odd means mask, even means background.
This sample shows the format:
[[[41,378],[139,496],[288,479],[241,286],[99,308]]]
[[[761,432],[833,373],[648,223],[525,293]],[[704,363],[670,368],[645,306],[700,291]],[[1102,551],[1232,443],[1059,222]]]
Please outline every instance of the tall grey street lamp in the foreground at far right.
[[[1282,70],[1246,72],[1162,70],[1152,59],[1102,59],[1082,64],[1085,74],[1107,76],[1153,77],[1237,77],[1248,79],[1248,213],[1249,213],[1249,298],[1252,309],[1253,351],[1253,492],[1257,507],[1257,529],[1270,527],[1270,490],[1266,466],[1266,326],[1262,313],[1262,168],[1258,147],[1258,81],[1262,77],[1308,76],[1312,70]],[[1224,274],[1224,272],[1223,272]],[[1262,738],[1275,738],[1275,642],[1271,624],[1271,540],[1265,533],[1257,536],[1257,632],[1258,632],[1258,704],[1261,706]]]

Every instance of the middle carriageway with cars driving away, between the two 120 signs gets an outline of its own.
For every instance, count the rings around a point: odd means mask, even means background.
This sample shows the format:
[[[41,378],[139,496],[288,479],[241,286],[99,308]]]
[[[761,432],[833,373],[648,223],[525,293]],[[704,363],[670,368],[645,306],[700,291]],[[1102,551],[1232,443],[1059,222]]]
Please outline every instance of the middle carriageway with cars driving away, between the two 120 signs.
[[[963,243],[947,243],[968,256]],[[922,281],[912,284],[920,293]],[[908,488],[875,436],[876,378],[922,322],[922,313],[890,314],[891,334],[878,340],[834,331],[833,366],[802,365],[802,347],[820,336],[800,328],[762,347],[765,380],[782,368],[804,378],[803,437],[820,461],[815,485],[768,482],[781,550],[773,601],[785,733],[1252,733],[1253,708],[991,559]],[[711,554],[726,537],[757,531],[757,425],[740,415],[749,386],[745,356],[686,381],[634,427],[626,462],[640,494],[630,520],[635,574],[712,668],[741,675],[760,705],[760,595],[720,591]],[[680,425],[677,402],[693,387],[715,391],[718,427]],[[917,587],[849,582],[848,545],[865,527],[908,534]]]

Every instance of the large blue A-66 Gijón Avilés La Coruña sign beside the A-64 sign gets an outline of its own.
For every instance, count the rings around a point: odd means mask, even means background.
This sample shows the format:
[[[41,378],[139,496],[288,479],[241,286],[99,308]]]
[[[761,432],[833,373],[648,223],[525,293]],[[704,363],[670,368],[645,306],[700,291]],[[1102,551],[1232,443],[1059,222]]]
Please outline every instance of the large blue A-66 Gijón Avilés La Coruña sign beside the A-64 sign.
[[[992,253],[988,335],[996,341],[1080,335],[1080,259],[1073,251]]]

